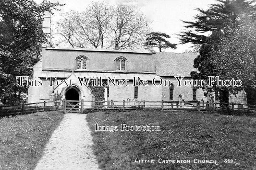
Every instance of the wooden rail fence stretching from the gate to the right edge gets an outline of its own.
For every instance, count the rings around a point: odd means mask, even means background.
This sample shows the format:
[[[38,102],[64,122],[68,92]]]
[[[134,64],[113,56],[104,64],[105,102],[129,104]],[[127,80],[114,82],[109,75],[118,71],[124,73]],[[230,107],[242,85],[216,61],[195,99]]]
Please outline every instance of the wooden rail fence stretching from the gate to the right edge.
[[[93,105],[85,104],[94,102]],[[220,109],[230,109],[230,110],[243,110],[249,112],[256,112],[256,105],[245,105],[240,103],[209,103],[209,102],[199,102],[199,101],[83,101],[84,109],[98,109],[98,110],[108,110],[108,109],[161,109],[161,110],[220,110]],[[96,104],[97,103],[97,104]],[[225,106],[225,107],[221,107]]]

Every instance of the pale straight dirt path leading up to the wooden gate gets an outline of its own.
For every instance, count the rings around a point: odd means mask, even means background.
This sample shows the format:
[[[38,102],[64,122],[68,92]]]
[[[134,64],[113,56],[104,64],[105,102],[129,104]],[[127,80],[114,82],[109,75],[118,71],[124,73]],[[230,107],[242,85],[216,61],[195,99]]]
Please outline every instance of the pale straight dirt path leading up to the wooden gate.
[[[65,114],[35,170],[99,170],[86,114]]]

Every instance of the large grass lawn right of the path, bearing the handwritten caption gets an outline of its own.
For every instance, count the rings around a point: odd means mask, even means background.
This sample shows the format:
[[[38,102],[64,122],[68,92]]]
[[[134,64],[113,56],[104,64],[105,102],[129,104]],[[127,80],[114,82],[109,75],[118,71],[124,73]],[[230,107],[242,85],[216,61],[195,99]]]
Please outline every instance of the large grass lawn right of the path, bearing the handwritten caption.
[[[89,113],[87,120],[103,170],[256,170],[256,116],[138,110]],[[95,131],[95,124],[119,130]],[[121,124],[161,131],[121,131]]]

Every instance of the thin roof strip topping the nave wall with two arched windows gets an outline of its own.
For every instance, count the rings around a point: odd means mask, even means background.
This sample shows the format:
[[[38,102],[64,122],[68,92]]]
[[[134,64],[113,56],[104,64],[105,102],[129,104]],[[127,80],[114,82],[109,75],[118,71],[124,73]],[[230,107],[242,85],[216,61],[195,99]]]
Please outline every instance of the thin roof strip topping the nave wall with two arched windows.
[[[71,48],[71,47],[47,47],[46,50],[72,50],[72,51],[93,51],[93,52],[114,52],[114,53],[138,53],[138,54],[152,54],[148,49],[143,50],[113,50],[104,48]]]

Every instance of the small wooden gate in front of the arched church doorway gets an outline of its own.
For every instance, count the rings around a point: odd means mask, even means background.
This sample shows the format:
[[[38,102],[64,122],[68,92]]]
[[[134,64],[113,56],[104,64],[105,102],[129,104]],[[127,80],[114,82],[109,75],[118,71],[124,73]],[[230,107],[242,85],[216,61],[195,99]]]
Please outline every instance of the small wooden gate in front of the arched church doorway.
[[[84,101],[70,101],[63,100],[63,111],[64,113],[83,113],[83,103]]]

